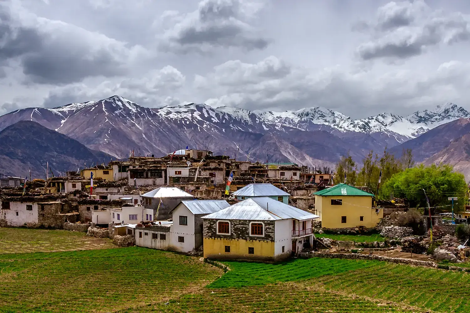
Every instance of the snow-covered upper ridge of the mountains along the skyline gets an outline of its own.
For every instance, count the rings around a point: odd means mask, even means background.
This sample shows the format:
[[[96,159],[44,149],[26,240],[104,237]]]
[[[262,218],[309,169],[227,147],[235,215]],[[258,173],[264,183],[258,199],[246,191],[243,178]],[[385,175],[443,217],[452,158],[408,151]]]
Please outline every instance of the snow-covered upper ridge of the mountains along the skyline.
[[[284,127],[302,130],[315,129],[315,125],[327,126],[326,130],[341,132],[354,131],[362,133],[383,132],[397,138],[415,138],[422,133],[461,117],[470,117],[463,107],[453,103],[439,105],[433,110],[417,111],[406,117],[391,113],[382,113],[363,119],[353,120],[340,112],[325,107],[309,107],[296,111],[250,111],[238,107],[213,108],[205,104],[181,104],[165,106],[156,109],[141,107],[121,96],[114,95],[99,101],[71,103],[63,107],[48,109],[54,114],[61,115],[63,120],[81,110],[103,110],[106,115],[125,115],[133,121],[135,118],[145,118],[149,121],[158,116],[165,120],[177,120],[184,125],[189,123],[201,127],[221,125],[220,131],[227,127],[235,130],[251,131],[253,129],[283,130]],[[93,112],[94,113],[94,112]],[[223,124],[223,125],[222,125]],[[318,128],[316,128],[318,129]],[[324,127],[321,128],[325,129]]]

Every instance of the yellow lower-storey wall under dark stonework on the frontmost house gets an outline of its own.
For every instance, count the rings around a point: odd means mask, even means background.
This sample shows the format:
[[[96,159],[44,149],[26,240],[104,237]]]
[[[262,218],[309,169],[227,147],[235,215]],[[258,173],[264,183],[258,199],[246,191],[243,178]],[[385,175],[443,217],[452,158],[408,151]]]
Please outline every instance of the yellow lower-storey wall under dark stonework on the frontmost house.
[[[226,245],[230,246],[230,252],[225,252]],[[248,254],[248,247],[253,247],[255,253]],[[204,238],[204,258],[274,260],[274,242]]]

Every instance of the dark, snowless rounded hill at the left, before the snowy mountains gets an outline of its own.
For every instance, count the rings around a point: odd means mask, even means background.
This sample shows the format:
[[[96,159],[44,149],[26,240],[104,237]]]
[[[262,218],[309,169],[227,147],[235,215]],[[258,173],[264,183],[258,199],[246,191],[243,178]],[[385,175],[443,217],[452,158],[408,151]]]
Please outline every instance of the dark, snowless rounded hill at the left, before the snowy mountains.
[[[55,176],[84,164],[102,164],[109,154],[88,149],[68,136],[37,122],[19,121],[0,131],[0,173],[46,178],[47,163]],[[49,173],[49,176],[52,176]]]

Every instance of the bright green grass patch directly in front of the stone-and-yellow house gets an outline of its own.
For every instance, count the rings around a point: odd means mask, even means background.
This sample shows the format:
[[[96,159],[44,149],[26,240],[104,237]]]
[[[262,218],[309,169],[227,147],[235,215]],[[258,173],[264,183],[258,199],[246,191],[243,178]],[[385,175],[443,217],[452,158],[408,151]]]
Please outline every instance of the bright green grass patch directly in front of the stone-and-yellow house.
[[[377,261],[321,258],[297,259],[277,264],[224,262],[231,270],[215,282],[212,282],[208,287],[244,287],[260,286],[275,282],[294,282],[373,267],[378,263]]]

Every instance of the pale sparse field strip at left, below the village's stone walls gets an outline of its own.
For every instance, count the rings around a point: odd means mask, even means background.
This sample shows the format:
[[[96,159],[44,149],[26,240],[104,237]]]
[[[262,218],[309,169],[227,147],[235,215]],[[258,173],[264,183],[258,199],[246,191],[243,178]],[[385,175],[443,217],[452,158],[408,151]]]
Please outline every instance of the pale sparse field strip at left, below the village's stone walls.
[[[0,227],[0,254],[54,252],[115,248],[107,238],[93,238],[85,232]]]

